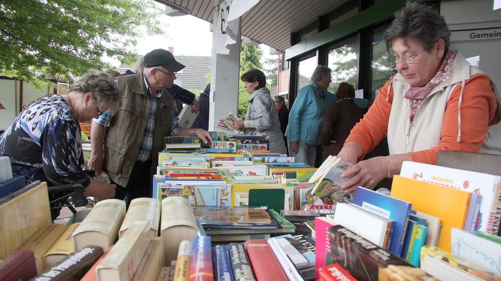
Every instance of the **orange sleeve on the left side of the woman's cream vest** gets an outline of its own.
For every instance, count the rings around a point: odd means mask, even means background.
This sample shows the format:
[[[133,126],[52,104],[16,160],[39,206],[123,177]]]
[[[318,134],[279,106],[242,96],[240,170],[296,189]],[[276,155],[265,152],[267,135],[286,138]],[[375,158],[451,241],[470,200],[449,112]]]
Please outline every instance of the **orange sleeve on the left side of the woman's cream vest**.
[[[345,144],[353,141],[362,147],[362,155],[358,161],[362,160],[365,154],[373,150],[386,137],[391,103],[393,102],[393,88],[390,89],[389,93],[387,92],[391,80],[393,77],[379,89],[373,105],[351,130],[350,136],[345,141]],[[388,95],[389,101],[386,101]]]

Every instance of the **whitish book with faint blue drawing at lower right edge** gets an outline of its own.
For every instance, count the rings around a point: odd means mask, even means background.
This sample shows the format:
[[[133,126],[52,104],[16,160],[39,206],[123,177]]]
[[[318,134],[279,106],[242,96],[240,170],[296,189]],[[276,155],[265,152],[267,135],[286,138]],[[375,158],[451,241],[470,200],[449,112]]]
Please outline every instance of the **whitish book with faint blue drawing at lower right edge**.
[[[453,228],[451,230],[451,249],[454,256],[501,274],[501,243]]]

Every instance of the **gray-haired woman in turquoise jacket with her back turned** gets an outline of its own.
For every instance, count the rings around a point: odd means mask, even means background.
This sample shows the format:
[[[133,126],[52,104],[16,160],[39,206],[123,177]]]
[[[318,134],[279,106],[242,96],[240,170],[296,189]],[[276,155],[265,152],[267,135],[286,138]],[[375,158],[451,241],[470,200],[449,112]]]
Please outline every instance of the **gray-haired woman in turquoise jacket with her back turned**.
[[[298,163],[315,166],[317,145],[320,144],[320,124],[327,109],[337,101],[326,91],[331,80],[331,70],[317,66],[311,75],[311,84],[302,87],[289,112],[287,140],[289,155]]]

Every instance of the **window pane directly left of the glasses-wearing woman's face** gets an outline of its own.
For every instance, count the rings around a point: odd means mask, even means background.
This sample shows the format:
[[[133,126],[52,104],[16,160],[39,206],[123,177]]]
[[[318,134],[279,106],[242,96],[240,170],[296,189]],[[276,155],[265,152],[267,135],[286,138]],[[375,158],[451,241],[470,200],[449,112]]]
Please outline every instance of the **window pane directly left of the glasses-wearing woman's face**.
[[[389,24],[374,29],[372,40],[372,73],[371,73],[371,97],[376,99],[379,88],[381,88],[390,77],[397,73],[395,64],[388,57],[386,44],[383,41],[384,30]]]

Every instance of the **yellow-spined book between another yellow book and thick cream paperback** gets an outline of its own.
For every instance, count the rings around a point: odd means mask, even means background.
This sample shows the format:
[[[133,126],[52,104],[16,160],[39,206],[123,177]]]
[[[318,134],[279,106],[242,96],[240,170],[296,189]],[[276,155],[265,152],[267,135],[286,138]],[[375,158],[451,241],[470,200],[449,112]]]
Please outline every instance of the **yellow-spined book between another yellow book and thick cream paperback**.
[[[54,243],[54,245],[43,255],[43,262],[46,268],[54,266],[69,254],[75,252],[71,235],[78,225],[80,225],[80,223],[71,224],[59,237],[56,243]]]

